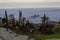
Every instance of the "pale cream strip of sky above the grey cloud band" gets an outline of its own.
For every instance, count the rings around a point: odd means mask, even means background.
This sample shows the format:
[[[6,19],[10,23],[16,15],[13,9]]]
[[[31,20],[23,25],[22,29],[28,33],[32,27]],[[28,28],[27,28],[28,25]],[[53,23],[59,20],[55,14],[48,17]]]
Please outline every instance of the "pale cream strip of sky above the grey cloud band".
[[[60,2],[60,0],[0,0],[0,2]]]

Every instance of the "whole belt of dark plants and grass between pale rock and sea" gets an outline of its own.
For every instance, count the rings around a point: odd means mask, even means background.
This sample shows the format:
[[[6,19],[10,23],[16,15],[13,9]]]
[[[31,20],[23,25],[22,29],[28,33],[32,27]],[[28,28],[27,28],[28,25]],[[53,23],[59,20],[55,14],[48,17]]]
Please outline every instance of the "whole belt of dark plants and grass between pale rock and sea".
[[[35,38],[35,40],[60,38],[60,27],[56,28],[54,24],[51,24],[45,14],[41,17],[41,24],[33,24],[25,21],[26,18],[22,19],[21,11],[19,11],[19,21],[16,21],[13,16],[10,16],[11,19],[8,20],[7,11],[5,11],[5,18],[2,19],[3,23],[0,26],[7,28],[7,30],[10,29],[19,35],[29,35],[29,38]]]

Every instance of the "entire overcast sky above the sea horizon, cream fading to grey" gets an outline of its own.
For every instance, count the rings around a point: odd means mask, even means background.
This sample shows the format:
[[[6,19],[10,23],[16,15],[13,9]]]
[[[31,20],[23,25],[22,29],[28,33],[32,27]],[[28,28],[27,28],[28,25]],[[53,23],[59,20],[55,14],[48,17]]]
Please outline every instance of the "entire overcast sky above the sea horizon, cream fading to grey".
[[[1,8],[60,8],[60,0],[0,0]]]

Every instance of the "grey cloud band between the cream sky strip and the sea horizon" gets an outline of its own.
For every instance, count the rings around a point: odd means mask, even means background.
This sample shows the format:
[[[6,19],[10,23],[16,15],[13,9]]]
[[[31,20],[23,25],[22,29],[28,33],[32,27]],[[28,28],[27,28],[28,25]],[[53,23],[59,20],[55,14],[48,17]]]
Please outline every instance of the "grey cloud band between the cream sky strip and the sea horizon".
[[[60,8],[60,2],[0,3],[1,8]]]

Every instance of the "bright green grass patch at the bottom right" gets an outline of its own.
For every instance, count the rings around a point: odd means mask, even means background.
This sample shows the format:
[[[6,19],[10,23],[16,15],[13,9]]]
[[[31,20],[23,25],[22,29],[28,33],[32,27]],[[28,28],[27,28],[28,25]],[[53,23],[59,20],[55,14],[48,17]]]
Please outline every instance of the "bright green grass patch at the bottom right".
[[[51,34],[51,35],[34,35],[35,40],[47,40],[47,39],[59,39],[60,34]]]

